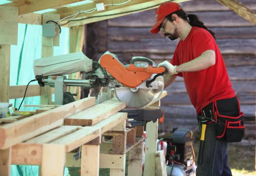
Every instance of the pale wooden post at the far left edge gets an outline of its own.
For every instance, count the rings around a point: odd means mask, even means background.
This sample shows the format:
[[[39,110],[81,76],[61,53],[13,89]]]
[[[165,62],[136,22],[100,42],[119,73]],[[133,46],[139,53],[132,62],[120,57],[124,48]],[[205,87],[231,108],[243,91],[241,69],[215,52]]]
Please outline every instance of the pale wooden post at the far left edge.
[[[9,102],[10,45],[17,45],[18,7],[0,6],[0,102]],[[11,148],[0,150],[0,175],[10,176]]]

